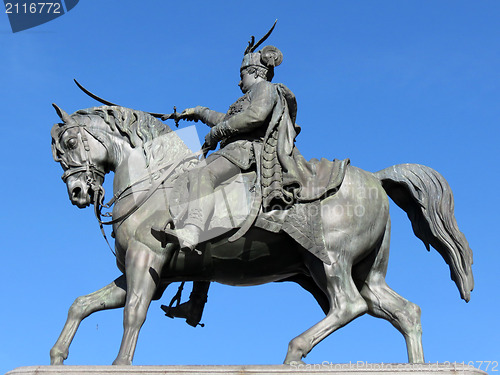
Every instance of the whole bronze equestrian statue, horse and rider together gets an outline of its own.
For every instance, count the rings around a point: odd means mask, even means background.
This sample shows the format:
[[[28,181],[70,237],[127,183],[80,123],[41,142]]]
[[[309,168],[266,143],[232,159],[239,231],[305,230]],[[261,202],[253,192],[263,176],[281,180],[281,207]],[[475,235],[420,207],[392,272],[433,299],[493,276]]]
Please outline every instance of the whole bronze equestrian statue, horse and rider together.
[[[259,44],[245,51],[244,96],[226,114],[196,107],[173,116],[211,127],[204,149],[218,142],[221,148],[205,161],[149,113],[102,106],[68,115],[54,105],[62,123],[52,128],[52,150],[69,198],[79,208],[93,204],[100,221],[102,207],[112,205],[108,224],[123,274],[76,299],[51,349],[52,364],[67,358],[84,318],[119,307],[124,333],[113,363],[131,364],[150,302],[179,281],[194,281],[191,302],[165,310],[191,325],[199,322],[212,281],[293,281],[309,291],[326,316],[290,342],[286,364],[301,362],[365,313],[391,322],[405,337],[408,360],[424,362],[420,309],[385,282],[388,196],[406,211],[425,246],[442,255],[469,300],[472,251],[458,229],[446,180],[418,164],[371,173],[347,160],[305,161],[294,144],[300,130],[295,97],[271,83],[282,54],[272,46],[255,52]],[[103,205],[102,183],[111,171],[114,195]]]

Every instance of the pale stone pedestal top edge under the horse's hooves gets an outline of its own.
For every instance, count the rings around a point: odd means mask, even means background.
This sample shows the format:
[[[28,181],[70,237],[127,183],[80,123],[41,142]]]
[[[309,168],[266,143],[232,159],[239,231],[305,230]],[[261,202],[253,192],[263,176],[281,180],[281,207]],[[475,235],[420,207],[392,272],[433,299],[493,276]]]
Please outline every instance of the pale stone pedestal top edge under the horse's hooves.
[[[328,363],[247,366],[28,366],[5,375],[485,375],[462,364]],[[486,374],[487,375],[487,374]]]

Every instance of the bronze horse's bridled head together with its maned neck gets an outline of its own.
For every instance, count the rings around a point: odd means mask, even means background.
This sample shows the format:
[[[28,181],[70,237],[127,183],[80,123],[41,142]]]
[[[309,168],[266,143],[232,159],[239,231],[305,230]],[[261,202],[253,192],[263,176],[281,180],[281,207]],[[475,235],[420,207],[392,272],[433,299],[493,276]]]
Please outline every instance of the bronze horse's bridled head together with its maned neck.
[[[123,188],[145,171],[157,173],[192,154],[175,132],[146,112],[101,106],[68,115],[53,106],[62,120],[51,131],[54,160],[64,169],[69,199],[80,208],[102,203],[102,183],[110,171],[120,176]]]

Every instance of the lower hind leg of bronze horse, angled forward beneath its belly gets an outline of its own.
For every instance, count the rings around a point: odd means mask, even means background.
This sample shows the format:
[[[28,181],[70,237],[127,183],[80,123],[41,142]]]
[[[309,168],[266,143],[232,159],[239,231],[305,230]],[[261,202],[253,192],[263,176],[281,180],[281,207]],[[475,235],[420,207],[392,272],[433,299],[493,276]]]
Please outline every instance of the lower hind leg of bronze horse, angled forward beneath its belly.
[[[315,268],[311,273],[328,296],[330,310],[323,320],[290,341],[285,364],[302,362],[321,340],[368,310],[351,278],[349,261],[337,259],[330,266],[317,263]]]

